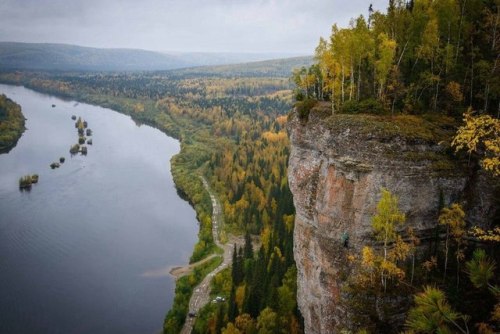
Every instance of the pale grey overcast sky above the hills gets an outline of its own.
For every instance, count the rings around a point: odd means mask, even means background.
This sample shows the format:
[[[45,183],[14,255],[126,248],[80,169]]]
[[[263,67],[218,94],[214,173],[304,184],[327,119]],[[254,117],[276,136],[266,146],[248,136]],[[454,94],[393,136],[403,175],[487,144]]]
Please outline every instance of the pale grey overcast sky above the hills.
[[[387,0],[0,0],[0,41],[312,54],[370,3]]]

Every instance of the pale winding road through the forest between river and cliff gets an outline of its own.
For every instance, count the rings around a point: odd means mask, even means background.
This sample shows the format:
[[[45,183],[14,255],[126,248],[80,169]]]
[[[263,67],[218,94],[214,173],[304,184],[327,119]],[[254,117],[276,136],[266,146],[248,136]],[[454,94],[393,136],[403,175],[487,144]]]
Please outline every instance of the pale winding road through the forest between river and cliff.
[[[212,193],[210,186],[208,185],[207,180],[200,176],[205,189],[210,194],[210,199],[212,200],[212,235],[214,238],[214,243],[224,249],[223,260],[222,263],[211,271],[201,283],[194,289],[193,294],[191,295],[191,299],[189,300],[189,312],[198,313],[198,311],[210,302],[210,281],[212,278],[224,268],[227,268],[231,265],[233,260],[233,247],[236,243],[238,246],[243,244],[243,240],[241,238],[236,238],[232,236],[225,245],[220,242],[219,239],[219,229],[222,228],[222,212],[220,208],[220,204]],[[195,318],[186,316],[186,322],[184,323],[184,327],[181,330],[182,334],[190,334],[193,330]]]

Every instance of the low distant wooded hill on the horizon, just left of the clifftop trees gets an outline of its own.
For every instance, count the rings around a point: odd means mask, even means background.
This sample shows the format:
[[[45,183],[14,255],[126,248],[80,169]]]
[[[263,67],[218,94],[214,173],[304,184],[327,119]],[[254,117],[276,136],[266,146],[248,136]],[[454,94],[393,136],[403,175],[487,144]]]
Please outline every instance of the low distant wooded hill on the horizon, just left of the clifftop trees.
[[[289,77],[294,68],[313,64],[312,56],[272,59],[241,64],[191,67],[172,70],[172,74],[182,76],[223,76],[223,77]]]

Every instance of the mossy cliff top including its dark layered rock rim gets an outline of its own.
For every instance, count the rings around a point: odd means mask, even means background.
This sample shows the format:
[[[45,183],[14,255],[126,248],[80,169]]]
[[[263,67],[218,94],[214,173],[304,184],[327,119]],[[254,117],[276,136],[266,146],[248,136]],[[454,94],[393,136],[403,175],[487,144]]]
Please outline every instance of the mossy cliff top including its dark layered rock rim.
[[[410,163],[440,175],[462,174],[466,161],[454,154],[451,140],[458,123],[443,115],[331,114],[328,102],[318,102],[306,117],[300,110],[290,116],[291,129],[298,129],[314,147],[321,138],[332,141],[337,154],[360,161]],[[300,124],[300,125],[299,125]],[[300,128],[300,129],[299,129]],[[326,136],[330,133],[332,136]],[[309,140],[306,140],[309,142]],[[340,144],[340,145],[338,145]]]

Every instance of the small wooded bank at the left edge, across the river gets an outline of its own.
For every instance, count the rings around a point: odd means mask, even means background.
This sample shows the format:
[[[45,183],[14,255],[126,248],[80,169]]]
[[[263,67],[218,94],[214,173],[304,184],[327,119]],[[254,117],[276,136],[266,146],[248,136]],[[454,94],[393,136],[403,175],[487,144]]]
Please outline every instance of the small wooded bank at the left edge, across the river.
[[[25,128],[21,106],[0,94],[0,154],[13,149]]]

